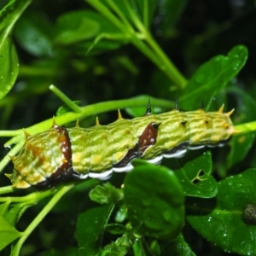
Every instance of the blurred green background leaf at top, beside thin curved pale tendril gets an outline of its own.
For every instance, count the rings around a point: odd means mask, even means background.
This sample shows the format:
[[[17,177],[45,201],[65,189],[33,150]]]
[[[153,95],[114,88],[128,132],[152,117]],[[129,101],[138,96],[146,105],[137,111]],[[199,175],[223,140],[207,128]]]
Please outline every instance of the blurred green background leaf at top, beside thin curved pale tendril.
[[[55,34],[55,44],[67,45],[80,42],[75,47],[78,52],[84,51],[84,54],[88,49],[98,52],[119,47],[126,42],[126,38],[107,19],[89,10],[73,11],[60,16]],[[89,41],[85,42],[86,40]]]

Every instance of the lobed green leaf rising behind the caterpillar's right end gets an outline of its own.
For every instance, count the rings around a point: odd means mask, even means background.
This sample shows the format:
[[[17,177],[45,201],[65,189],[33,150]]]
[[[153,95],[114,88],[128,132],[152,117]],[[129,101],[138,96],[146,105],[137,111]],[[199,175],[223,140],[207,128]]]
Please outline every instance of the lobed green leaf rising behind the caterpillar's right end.
[[[227,56],[218,55],[197,69],[179,98],[182,108],[196,109],[202,100],[209,108],[212,97],[233,79],[247,61],[247,48],[238,45]]]

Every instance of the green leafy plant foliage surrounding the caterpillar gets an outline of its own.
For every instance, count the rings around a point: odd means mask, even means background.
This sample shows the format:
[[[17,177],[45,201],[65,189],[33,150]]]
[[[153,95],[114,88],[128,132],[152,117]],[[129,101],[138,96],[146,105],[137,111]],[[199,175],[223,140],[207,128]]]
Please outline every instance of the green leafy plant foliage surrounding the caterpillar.
[[[210,2],[0,3],[1,255],[256,255],[255,3]],[[4,177],[23,127],[108,124],[148,98],[154,113],[224,103],[241,132],[162,166],[134,160],[107,183],[37,191]]]

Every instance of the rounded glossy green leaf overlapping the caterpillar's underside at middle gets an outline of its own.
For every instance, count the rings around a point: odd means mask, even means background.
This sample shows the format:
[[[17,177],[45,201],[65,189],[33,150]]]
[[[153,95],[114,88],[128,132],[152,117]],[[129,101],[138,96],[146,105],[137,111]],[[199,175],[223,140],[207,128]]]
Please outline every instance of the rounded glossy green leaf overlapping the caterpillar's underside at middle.
[[[183,189],[169,169],[147,162],[136,166],[125,177],[124,193],[128,218],[138,234],[171,239],[181,231]]]

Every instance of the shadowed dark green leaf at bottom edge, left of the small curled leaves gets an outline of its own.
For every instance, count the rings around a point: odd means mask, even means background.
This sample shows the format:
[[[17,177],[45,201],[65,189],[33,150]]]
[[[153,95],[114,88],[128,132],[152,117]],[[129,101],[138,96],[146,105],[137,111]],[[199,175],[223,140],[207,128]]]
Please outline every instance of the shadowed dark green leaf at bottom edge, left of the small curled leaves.
[[[102,236],[113,205],[92,208],[79,214],[77,222],[77,240],[79,255],[96,255],[102,247]]]

